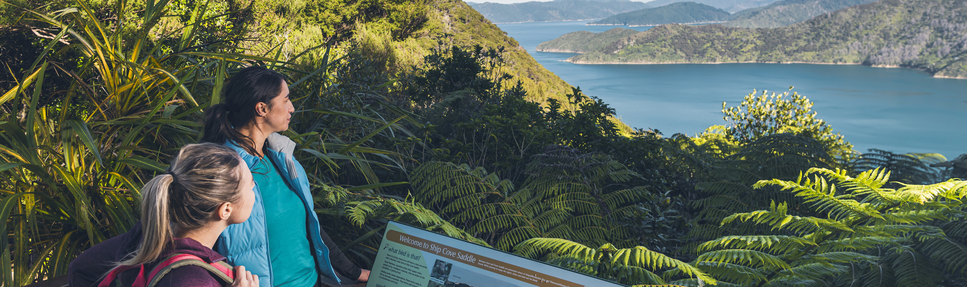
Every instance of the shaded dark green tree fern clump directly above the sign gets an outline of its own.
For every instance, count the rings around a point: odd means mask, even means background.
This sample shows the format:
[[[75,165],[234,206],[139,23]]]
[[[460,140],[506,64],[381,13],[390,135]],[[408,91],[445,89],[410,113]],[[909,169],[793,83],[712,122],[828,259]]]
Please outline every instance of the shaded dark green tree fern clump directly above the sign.
[[[637,176],[624,165],[563,146],[536,156],[528,175],[516,189],[484,168],[430,161],[410,181],[417,201],[504,250],[538,237],[628,239],[630,232],[617,221],[647,195],[644,187],[616,185]]]

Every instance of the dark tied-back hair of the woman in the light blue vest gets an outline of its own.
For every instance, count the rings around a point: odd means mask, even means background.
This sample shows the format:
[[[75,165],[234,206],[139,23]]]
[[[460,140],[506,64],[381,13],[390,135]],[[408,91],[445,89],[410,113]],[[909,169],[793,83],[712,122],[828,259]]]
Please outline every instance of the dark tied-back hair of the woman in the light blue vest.
[[[254,143],[235,128],[244,127],[255,118],[255,104],[265,102],[272,107],[272,99],[282,93],[285,76],[265,67],[252,66],[232,76],[221,91],[221,103],[205,111],[203,142],[224,144],[234,141],[249,154],[257,155]]]

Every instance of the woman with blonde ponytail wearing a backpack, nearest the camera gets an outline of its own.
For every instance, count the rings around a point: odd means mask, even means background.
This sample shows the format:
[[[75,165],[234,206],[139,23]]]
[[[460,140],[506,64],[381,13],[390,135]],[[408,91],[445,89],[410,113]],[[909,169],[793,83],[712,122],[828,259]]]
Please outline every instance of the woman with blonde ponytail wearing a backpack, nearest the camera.
[[[217,144],[183,147],[166,174],[141,188],[141,221],[80,254],[69,268],[70,286],[258,286],[258,276],[243,266],[234,268],[233,280],[199,265],[154,272],[184,254],[222,264],[225,257],[212,247],[225,228],[249,218],[253,186],[248,165],[234,150]]]

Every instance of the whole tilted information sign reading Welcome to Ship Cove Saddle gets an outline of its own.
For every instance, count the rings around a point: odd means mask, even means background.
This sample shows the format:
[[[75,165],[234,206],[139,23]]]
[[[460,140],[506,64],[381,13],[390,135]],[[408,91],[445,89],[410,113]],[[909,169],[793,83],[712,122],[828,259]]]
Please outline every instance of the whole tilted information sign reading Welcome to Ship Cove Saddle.
[[[625,286],[390,221],[366,287]]]

